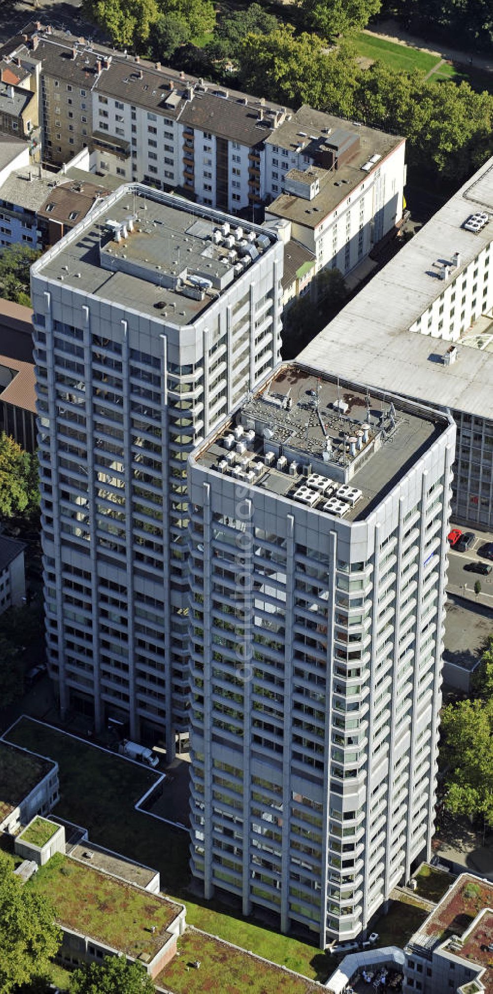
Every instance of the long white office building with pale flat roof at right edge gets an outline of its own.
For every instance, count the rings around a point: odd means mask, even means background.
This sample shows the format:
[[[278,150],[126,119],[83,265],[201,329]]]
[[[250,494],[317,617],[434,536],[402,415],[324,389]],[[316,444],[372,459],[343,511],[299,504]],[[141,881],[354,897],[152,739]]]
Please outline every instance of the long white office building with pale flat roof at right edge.
[[[493,526],[493,159],[316,336],[300,359],[450,410],[452,514]]]

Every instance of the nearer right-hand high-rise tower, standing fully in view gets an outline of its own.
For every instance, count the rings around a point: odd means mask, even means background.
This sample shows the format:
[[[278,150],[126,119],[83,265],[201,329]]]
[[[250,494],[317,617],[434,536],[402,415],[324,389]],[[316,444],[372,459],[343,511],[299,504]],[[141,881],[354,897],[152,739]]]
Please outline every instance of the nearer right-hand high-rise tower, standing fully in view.
[[[193,874],[321,946],[430,855],[453,456],[292,364],[189,458]]]

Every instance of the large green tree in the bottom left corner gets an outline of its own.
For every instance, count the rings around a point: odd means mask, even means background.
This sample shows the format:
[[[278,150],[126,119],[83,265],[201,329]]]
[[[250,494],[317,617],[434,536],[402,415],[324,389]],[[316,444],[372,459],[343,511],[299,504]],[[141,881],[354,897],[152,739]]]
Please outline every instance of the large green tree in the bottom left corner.
[[[0,994],[46,973],[62,940],[50,902],[23,886],[13,869],[0,850]]]

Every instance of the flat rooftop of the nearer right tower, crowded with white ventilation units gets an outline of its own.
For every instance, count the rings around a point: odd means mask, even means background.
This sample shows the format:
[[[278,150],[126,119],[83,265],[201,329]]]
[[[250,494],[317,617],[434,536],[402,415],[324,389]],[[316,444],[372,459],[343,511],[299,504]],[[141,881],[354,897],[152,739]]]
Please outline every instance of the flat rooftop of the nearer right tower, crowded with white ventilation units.
[[[391,395],[286,364],[195,461],[352,522],[368,515],[445,425]]]

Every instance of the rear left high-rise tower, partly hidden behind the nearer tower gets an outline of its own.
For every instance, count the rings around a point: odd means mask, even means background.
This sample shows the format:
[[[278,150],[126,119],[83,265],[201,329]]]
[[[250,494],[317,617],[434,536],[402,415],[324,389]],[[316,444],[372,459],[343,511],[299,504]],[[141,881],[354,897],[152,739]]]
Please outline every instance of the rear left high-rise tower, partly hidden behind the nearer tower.
[[[283,246],[133,185],[33,267],[47,645],[62,714],[187,727],[186,458],[279,359]]]

